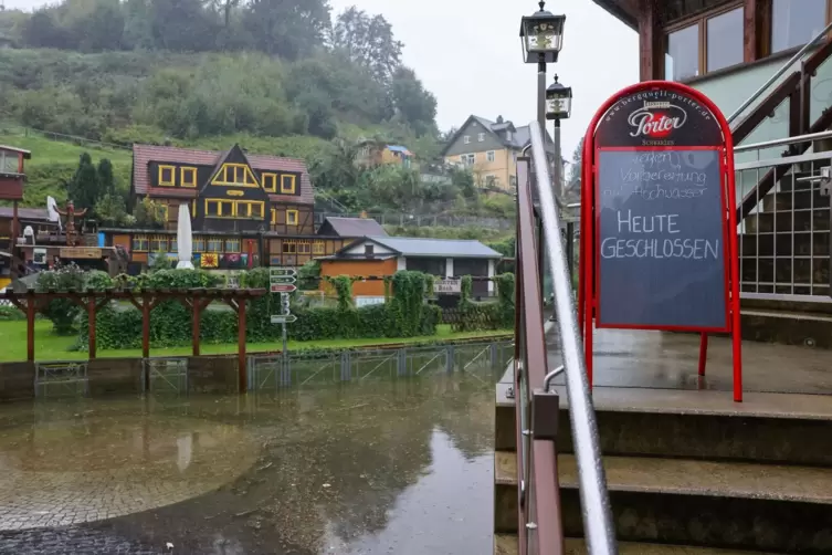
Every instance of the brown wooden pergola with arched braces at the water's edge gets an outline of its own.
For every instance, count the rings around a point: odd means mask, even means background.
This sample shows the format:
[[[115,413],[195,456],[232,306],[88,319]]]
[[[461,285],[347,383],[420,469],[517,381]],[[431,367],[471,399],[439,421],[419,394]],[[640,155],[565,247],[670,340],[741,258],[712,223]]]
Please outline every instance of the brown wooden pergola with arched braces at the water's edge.
[[[27,360],[34,362],[34,316],[43,311],[46,305],[57,299],[67,299],[86,310],[89,321],[89,359],[96,358],[95,346],[95,318],[101,308],[110,301],[127,300],[136,308],[141,311],[141,357],[150,356],[150,311],[159,303],[178,301],[192,311],[192,336],[191,348],[193,356],[199,356],[200,321],[202,311],[214,301],[228,304],[234,310],[238,317],[238,362],[240,365],[239,379],[240,390],[245,390],[246,365],[245,365],[245,307],[246,301],[257,299],[266,294],[265,289],[188,289],[188,290],[105,290],[105,291],[44,291],[35,292],[33,289],[25,293],[7,291],[0,295],[11,302],[18,310],[27,315]]]

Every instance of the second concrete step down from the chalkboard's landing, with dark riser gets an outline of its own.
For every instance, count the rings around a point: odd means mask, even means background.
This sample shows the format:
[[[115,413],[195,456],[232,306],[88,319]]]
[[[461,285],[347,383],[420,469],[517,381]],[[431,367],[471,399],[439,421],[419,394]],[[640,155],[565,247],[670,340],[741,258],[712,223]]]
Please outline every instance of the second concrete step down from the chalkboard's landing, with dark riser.
[[[644,430],[642,430],[644,431]],[[832,472],[773,464],[604,457],[622,541],[832,553]],[[575,458],[558,457],[567,536],[581,536]]]

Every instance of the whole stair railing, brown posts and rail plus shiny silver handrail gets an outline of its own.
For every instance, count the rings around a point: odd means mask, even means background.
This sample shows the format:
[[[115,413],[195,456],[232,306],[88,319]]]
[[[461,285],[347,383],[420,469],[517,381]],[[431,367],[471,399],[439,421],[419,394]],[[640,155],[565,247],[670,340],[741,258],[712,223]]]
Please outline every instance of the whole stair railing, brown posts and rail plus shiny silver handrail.
[[[578,333],[571,280],[559,232],[557,199],[539,124],[531,123],[531,160],[517,166],[517,287],[515,391],[518,426],[519,547],[522,555],[564,553],[557,474],[558,395],[549,388],[555,375],[567,377],[567,395],[584,536],[590,555],[618,553],[610,513],[600,441]],[[534,164],[535,176],[531,176]],[[536,184],[533,195],[533,181]],[[535,202],[541,226],[535,221]],[[543,247],[541,247],[543,245]],[[555,289],[555,311],[564,366],[548,371],[543,325],[543,294],[538,255],[545,249]]]

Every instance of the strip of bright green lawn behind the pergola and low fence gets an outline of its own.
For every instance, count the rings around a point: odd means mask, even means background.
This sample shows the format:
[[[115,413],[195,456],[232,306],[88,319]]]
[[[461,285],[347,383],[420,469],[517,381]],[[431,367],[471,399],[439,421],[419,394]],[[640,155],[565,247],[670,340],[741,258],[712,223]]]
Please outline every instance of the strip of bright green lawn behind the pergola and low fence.
[[[471,337],[488,338],[495,335],[506,335],[507,332],[466,332],[454,333],[450,325],[439,326],[436,335],[424,337],[388,338],[388,339],[326,339],[314,342],[288,343],[289,349],[309,348],[350,348],[366,345],[382,345],[397,343],[423,343],[435,341],[466,339]],[[35,360],[77,360],[86,359],[86,352],[67,350],[75,343],[75,336],[63,337],[52,333],[52,323],[36,321],[34,324],[34,358]],[[25,360],[27,358],[27,326],[23,321],[0,322],[0,362]],[[280,350],[281,342],[249,343],[250,353]],[[236,344],[208,345],[203,344],[200,352],[204,355],[236,353]],[[190,347],[150,347],[150,356],[190,355]],[[140,349],[98,350],[98,357],[140,357]]]

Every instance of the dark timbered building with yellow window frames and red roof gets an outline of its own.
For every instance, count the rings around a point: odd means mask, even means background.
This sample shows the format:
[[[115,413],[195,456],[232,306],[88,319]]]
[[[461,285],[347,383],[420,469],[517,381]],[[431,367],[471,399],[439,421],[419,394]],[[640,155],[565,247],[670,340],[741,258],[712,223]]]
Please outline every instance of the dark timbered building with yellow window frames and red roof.
[[[234,270],[301,266],[331,255],[349,239],[314,226],[315,195],[298,159],[228,151],[134,145],[134,202],[149,198],[160,229],[103,229],[106,244],[129,252],[130,272],[155,256],[176,258],[179,206],[187,203],[198,268]]]

